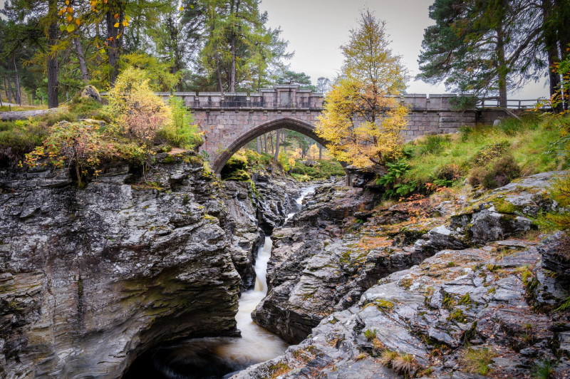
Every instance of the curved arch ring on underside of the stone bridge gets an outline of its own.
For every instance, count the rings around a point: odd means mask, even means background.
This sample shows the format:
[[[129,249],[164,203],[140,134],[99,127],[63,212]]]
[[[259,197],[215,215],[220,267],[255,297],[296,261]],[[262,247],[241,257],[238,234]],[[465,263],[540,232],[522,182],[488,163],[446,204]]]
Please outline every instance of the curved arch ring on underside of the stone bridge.
[[[326,140],[323,140],[323,138],[316,135],[314,125],[306,123],[302,120],[298,120],[296,118],[279,118],[276,120],[271,120],[267,123],[263,123],[261,125],[257,125],[256,127],[247,130],[246,133],[237,137],[237,139],[234,140],[231,145],[226,147],[224,150],[219,152],[216,157],[214,157],[214,160],[211,162],[212,170],[218,175],[222,171],[222,168],[224,168],[224,165],[226,165],[226,162],[229,160],[229,158],[232,157],[232,155],[234,155],[237,150],[244,147],[247,142],[254,140],[260,135],[264,135],[265,133],[269,133],[278,129],[294,130],[306,135],[313,140],[316,140],[316,142],[320,143],[323,146],[328,143]]]

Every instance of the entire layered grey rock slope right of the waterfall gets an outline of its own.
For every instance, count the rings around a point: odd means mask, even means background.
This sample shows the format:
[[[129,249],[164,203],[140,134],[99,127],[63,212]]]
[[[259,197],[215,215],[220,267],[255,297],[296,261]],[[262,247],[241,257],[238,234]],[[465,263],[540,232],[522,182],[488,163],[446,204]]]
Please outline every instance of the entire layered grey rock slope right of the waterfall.
[[[299,214],[274,232],[273,289],[254,316],[300,343],[234,378],[528,378],[548,360],[564,378],[570,316],[554,310],[568,296],[570,241],[539,242],[530,219],[556,206],[544,191],[555,174],[360,209],[310,244]]]

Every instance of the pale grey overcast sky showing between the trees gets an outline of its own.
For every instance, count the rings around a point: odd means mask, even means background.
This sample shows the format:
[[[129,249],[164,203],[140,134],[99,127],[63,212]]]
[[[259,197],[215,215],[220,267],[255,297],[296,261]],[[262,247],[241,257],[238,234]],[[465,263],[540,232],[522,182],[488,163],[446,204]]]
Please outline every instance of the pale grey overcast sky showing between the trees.
[[[281,26],[282,36],[295,51],[292,71],[303,71],[315,83],[320,76],[334,78],[341,68],[339,49],[348,41],[348,31],[356,27],[361,9],[371,9],[378,19],[386,21],[395,53],[413,76],[418,73],[418,55],[423,31],[435,24],[427,8],[434,0],[261,0],[260,8],[269,14],[268,25]],[[548,95],[540,83],[531,83],[510,98],[533,99]],[[410,81],[408,93],[444,93],[444,85],[428,85]]]

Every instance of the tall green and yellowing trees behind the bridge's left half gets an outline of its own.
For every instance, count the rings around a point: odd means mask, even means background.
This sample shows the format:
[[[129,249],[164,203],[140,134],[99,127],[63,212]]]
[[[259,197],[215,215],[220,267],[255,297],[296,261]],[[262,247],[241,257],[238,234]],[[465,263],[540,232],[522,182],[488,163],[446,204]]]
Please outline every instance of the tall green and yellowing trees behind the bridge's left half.
[[[52,108],[86,83],[108,90],[128,66],[153,90],[326,90],[289,70],[293,52],[256,0],[9,0],[0,20],[0,86],[11,103]]]

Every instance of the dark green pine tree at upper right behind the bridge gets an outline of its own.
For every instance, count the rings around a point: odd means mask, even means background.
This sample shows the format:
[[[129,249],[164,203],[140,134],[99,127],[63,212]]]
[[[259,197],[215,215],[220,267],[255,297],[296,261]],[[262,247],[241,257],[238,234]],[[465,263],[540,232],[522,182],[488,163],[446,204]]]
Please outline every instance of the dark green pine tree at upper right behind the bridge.
[[[472,108],[475,97],[506,97],[507,89],[522,87],[547,66],[537,51],[544,48],[541,31],[552,25],[544,19],[524,24],[539,19],[539,7],[528,1],[435,0],[430,6],[435,25],[425,29],[418,78],[467,94],[470,98],[454,99],[461,110]]]

